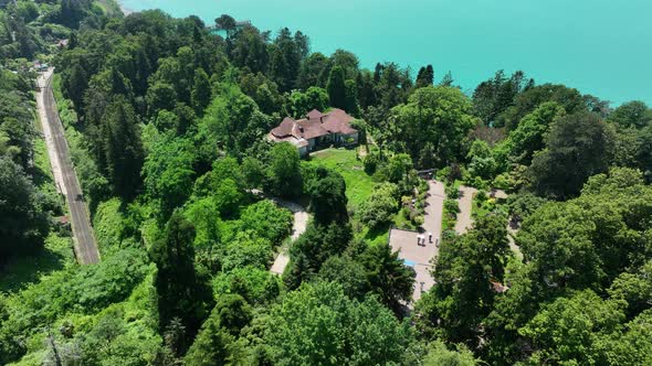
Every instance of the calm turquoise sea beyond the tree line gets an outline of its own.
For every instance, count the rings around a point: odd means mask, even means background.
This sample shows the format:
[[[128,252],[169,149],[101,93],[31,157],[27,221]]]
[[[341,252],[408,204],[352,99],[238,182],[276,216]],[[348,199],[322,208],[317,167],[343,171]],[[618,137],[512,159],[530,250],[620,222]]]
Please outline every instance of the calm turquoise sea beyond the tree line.
[[[525,71],[614,105],[652,105],[651,0],[124,0],[207,23],[222,13],[262,30],[288,26],[312,50],[354,52],[365,67],[432,64],[472,93],[497,69]]]

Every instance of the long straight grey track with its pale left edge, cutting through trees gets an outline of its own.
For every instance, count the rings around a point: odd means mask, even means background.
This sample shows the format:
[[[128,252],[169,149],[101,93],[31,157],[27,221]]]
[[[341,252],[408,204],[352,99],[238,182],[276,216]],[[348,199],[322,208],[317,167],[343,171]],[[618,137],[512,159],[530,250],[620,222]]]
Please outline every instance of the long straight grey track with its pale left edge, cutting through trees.
[[[63,133],[63,125],[59,119],[56,101],[52,93],[52,69],[43,73],[36,80],[36,107],[43,134],[48,146],[48,154],[57,190],[65,196],[70,219],[73,227],[75,256],[81,265],[99,261],[99,250],[93,236],[93,227],[88,211],[83,200],[82,187],[73,168],[71,153]]]

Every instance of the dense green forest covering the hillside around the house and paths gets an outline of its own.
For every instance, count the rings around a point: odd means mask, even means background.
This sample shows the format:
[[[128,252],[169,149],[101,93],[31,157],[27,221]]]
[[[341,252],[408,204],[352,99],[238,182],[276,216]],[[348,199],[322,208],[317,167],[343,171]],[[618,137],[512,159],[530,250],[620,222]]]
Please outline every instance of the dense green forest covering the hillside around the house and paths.
[[[55,66],[96,265],[56,219],[35,60]],[[642,101],[502,71],[465,95],[437,65],[366,69],[301,31],[113,1],[0,0],[0,365],[652,364]],[[360,147],[302,160],[265,139],[313,108],[356,117]],[[444,232],[410,303],[387,232],[423,223],[431,169]],[[461,184],[479,194],[456,235]],[[308,207],[301,237],[266,197]]]

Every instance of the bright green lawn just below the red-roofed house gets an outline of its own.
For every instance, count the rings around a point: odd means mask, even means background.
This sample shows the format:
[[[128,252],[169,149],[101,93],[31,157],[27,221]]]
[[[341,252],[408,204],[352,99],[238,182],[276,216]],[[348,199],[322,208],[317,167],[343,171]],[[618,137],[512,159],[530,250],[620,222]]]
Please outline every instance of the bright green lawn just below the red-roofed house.
[[[365,173],[362,161],[356,159],[355,150],[326,149],[311,154],[312,163],[337,171],[346,182],[346,196],[354,209],[371,195],[377,183],[371,175]]]

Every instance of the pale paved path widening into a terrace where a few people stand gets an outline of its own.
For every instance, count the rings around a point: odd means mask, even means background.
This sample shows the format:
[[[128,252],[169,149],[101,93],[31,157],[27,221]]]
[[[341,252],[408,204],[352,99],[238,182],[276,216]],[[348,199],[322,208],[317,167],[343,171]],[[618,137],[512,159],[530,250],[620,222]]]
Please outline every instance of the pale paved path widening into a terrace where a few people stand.
[[[403,259],[408,266],[414,268],[417,278],[414,281],[414,292],[412,300],[421,298],[421,293],[430,290],[434,286],[434,280],[430,276],[432,270],[432,259],[439,255],[439,247],[435,241],[441,238],[441,219],[444,205],[444,186],[440,182],[429,181],[430,190],[425,198],[425,214],[423,215],[423,232],[410,232],[391,229],[389,244],[395,251],[399,250],[399,258]],[[428,233],[432,233],[432,243],[428,240]],[[417,245],[418,235],[425,236],[425,245]]]

